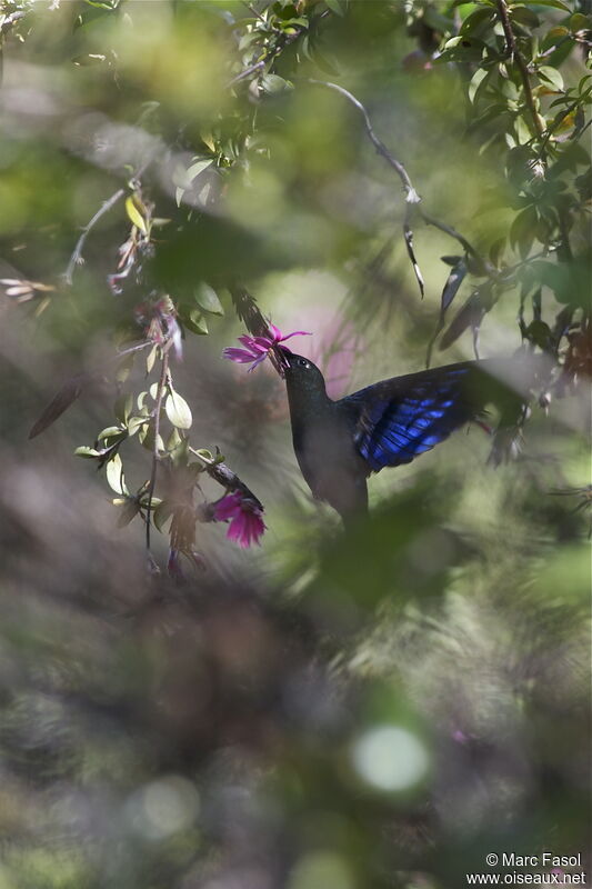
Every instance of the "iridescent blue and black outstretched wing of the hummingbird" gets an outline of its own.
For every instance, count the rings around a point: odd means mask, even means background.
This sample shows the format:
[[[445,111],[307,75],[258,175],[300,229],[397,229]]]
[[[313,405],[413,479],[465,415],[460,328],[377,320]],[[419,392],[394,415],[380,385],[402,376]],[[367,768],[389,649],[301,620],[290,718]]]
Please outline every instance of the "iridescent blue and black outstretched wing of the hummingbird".
[[[354,413],[354,442],[371,470],[410,463],[481,410],[472,362],[395,377],[341,400]]]

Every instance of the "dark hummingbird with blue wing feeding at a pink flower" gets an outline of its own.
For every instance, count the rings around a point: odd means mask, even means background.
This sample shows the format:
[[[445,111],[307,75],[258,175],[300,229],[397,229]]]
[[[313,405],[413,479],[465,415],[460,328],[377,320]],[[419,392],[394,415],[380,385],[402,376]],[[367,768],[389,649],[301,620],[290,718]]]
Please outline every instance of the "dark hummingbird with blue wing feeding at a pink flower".
[[[345,523],[368,509],[371,472],[411,462],[489,402],[501,424],[515,423],[530,388],[523,364],[491,359],[393,377],[333,401],[311,361],[287,350],[284,360],[298,463],[313,496]]]

